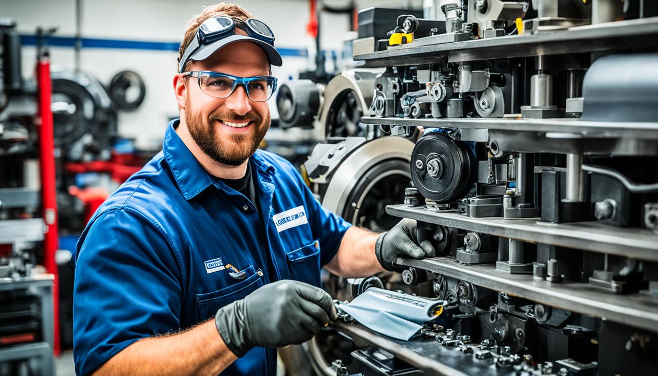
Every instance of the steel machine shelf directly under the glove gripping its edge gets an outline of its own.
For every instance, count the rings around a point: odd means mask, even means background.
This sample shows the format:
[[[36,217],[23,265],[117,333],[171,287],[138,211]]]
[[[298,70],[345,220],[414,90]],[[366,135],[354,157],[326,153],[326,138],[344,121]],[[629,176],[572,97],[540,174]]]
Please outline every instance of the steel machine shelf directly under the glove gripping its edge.
[[[658,298],[649,294],[610,294],[582,282],[555,284],[538,281],[532,275],[497,271],[493,264],[462,265],[451,257],[396,259],[397,265],[416,267],[471,282],[492,290],[507,292],[538,302],[611,321],[655,331],[658,327]]]

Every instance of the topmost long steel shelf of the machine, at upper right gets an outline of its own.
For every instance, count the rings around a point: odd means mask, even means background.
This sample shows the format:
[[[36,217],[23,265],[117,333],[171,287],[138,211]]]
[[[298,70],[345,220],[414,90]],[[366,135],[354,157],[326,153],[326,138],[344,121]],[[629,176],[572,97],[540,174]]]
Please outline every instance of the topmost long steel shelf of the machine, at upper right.
[[[642,45],[658,45],[658,17],[574,26],[550,33],[522,34],[482,40],[457,41],[403,50],[386,50],[355,55],[368,67],[418,65],[441,59],[459,63],[482,59],[504,59],[586,51],[610,51]],[[409,43],[413,47],[413,42]]]

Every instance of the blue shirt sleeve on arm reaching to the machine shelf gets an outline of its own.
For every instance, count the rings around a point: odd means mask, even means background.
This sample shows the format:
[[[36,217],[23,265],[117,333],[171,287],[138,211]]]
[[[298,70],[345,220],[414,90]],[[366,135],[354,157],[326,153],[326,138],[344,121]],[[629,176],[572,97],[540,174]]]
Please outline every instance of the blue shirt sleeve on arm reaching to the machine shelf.
[[[340,242],[343,240],[343,235],[352,225],[342,217],[324,209],[299,173],[297,173],[297,177],[304,193],[305,206],[309,211],[309,224],[313,231],[313,238],[320,241],[320,266],[324,266],[334,258]]]

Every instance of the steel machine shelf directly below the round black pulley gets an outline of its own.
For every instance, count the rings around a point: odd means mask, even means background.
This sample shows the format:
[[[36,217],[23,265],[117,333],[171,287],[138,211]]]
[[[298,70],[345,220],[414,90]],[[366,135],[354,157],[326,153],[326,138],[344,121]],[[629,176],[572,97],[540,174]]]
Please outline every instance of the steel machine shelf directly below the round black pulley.
[[[524,242],[552,244],[635,259],[658,261],[658,234],[643,228],[613,227],[592,222],[544,223],[538,218],[471,218],[455,212],[437,213],[424,207],[388,205],[386,212],[447,227],[513,238]]]

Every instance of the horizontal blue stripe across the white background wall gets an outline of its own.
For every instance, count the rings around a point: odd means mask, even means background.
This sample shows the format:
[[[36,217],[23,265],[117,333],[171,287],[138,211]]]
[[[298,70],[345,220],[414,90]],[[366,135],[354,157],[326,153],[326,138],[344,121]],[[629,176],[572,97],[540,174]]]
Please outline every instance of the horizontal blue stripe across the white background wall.
[[[166,41],[139,41],[139,40],[113,40],[97,38],[80,38],[82,48],[116,48],[116,49],[145,49],[151,51],[178,51],[179,42]],[[20,35],[22,45],[37,45],[35,35]],[[45,39],[45,43],[52,47],[75,47],[76,38],[50,36]],[[306,49],[298,48],[277,48],[281,56],[307,57],[309,55]]]

